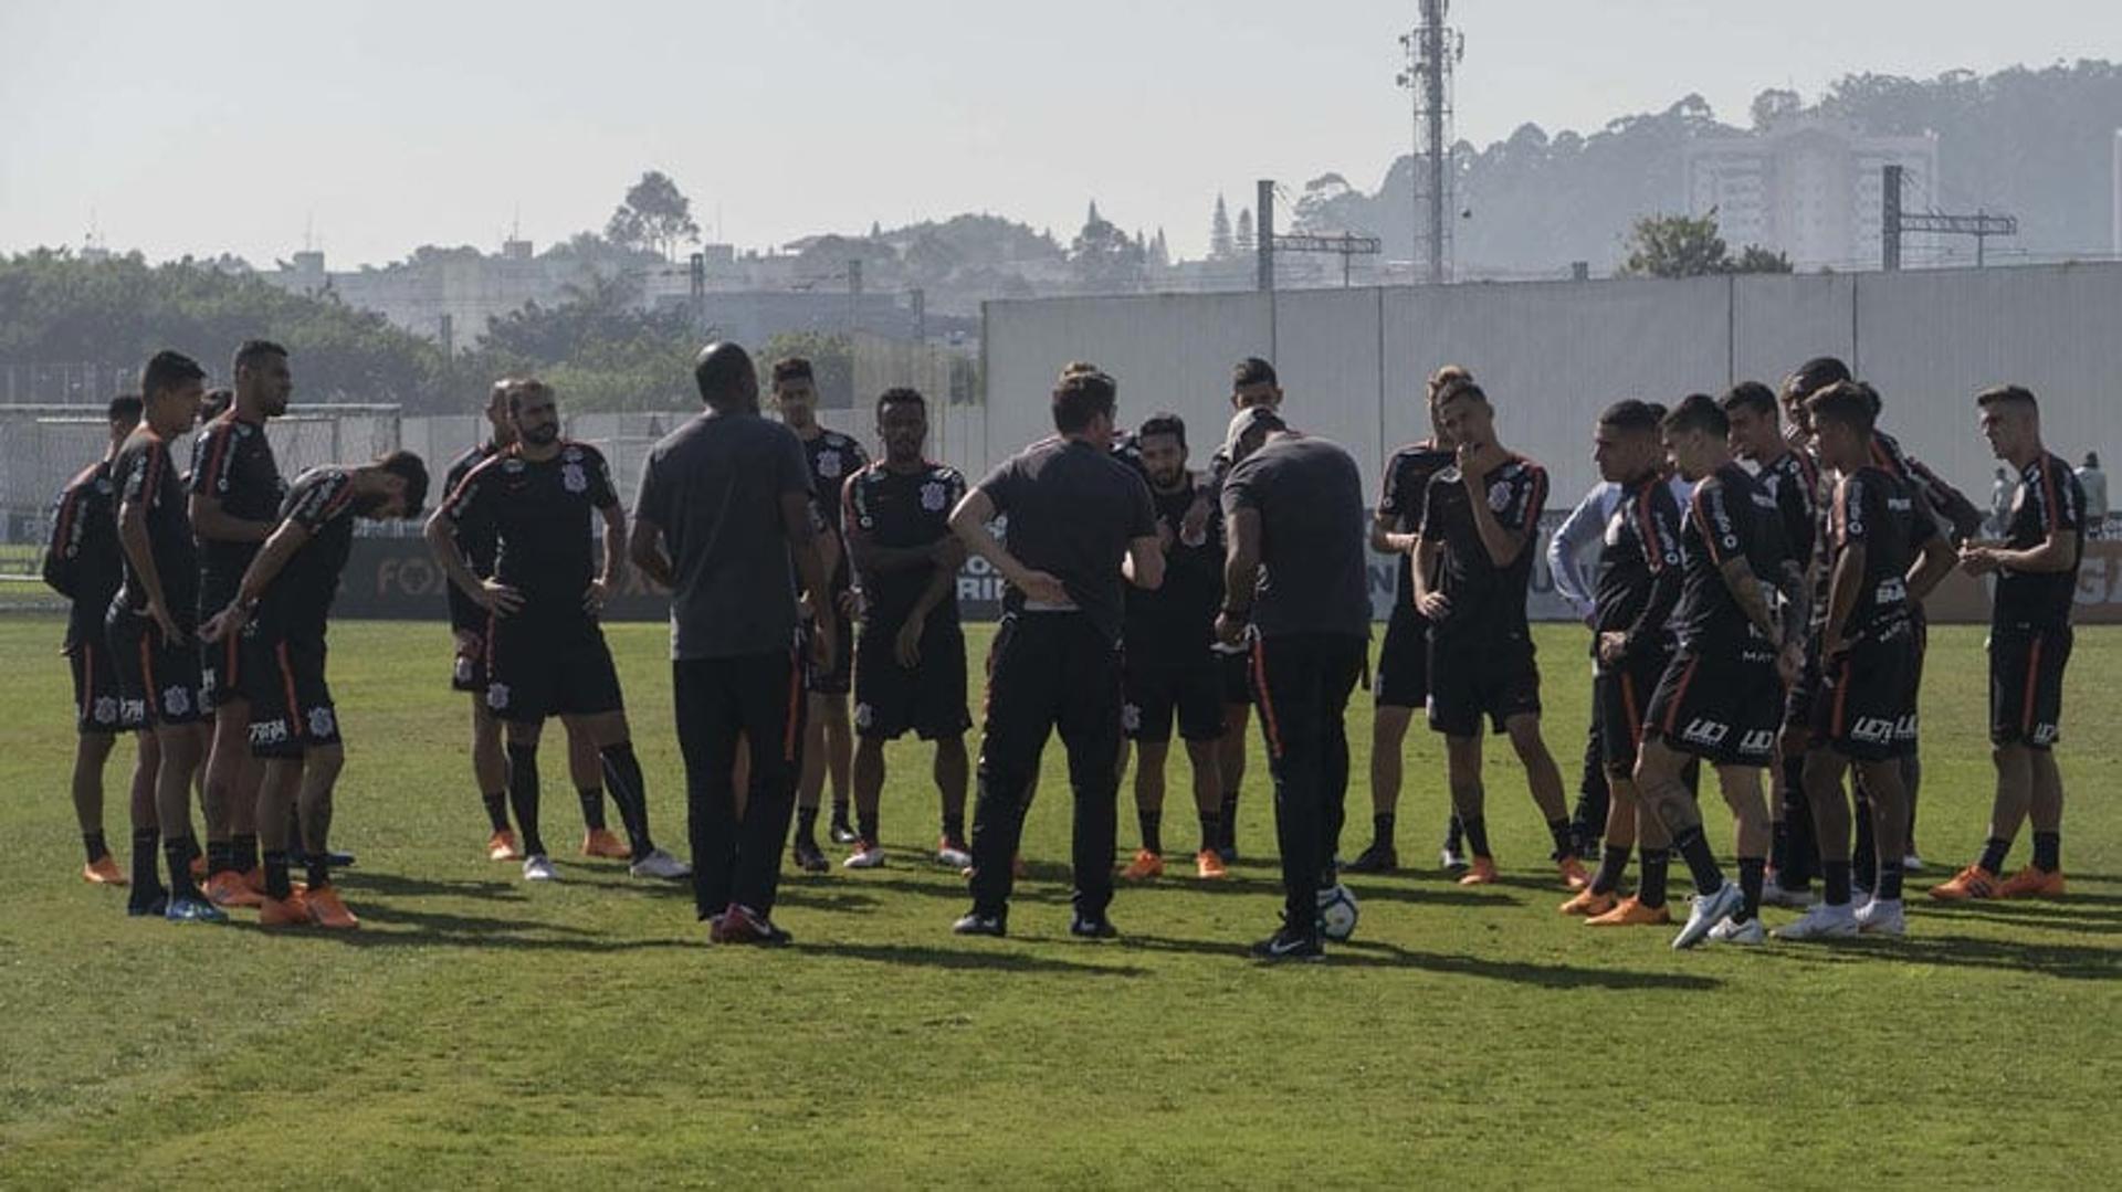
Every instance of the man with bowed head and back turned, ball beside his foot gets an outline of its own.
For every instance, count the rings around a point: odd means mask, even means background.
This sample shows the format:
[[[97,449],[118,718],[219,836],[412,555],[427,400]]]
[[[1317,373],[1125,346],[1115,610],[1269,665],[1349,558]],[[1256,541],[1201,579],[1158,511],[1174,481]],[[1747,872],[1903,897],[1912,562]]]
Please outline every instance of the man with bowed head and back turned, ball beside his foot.
[[[1260,961],[1316,961],[1347,797],[1347,696],[1371,647],[1362,477],[1345,450],[1294,435],[1273,409],[1241,409],[1224,439],[1231,539],[1216,636],[1252,632],[1252,683],[1275,778],[1282,927]],[[1265,577],[1263,577],[1265,573]]]

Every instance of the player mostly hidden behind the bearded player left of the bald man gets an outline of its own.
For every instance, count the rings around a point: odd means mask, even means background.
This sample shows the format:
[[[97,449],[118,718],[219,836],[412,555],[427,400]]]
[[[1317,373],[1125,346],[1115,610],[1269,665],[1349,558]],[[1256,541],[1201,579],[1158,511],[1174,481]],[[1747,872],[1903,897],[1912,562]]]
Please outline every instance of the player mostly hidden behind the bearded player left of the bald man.
[[[494,382],[486,397],[488,437],[467,448],[441,481],[448,496],[484,464],[516,443],[516,424],[509,422],[509,386],[514,378]],[[456,547],[465,554],[465,564],[480,579],[494,575],[497,537],[492,526],[458,526]],[[492,617],[463,588],[448,583],[450,634],[456,641],[456,660],[450,687],[471,694],[471,776],[480,785],[480,802],[486,804],[486,819],[492,836],[486,838],[486,857],[492,861],[522,861],[522,842],[509,827],[509,759],[501,747],[501,719],[486,706],[486,630]],[[581,855],[584,857],[632,857],[626,844],[605,827],[605,764],[596,755],[596,738],[581,723],[581,717],[562,715],[567,730],[567,768],[581,797]]]

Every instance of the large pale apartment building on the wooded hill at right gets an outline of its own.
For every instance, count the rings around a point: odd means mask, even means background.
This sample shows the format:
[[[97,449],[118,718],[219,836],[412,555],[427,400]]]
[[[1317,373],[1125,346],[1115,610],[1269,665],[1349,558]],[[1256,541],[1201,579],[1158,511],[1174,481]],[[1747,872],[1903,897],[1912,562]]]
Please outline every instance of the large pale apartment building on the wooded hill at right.
[[[1863,136],[1848,125],[1791,119],[1755,136],[1687,146],[1687,210],[1717,210],[1725,244],[1785,252],[1797,269],[1880,265],[1882,170],[1901,168],[1901,201],[1937,206],[1937,136]],[[1903,238],[1920,261],[1933,238]]]

